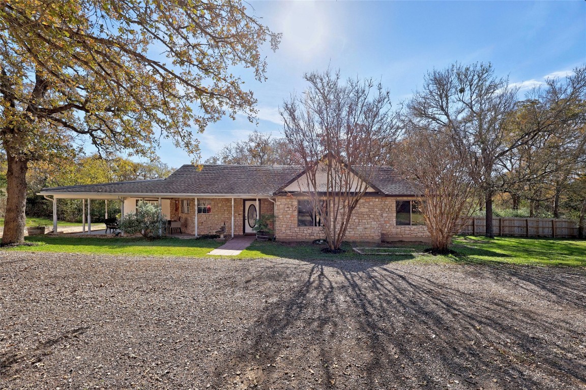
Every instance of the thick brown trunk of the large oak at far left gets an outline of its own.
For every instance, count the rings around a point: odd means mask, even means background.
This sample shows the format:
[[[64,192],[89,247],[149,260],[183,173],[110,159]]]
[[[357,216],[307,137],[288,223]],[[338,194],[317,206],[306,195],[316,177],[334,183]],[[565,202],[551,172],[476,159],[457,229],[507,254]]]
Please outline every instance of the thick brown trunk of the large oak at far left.
[[[6,214],[4,216],[4,233],[2,246],[23,243],[26,226],[26,171],[27,160],[18,160],[6,153],[8,170],[6,171]]]

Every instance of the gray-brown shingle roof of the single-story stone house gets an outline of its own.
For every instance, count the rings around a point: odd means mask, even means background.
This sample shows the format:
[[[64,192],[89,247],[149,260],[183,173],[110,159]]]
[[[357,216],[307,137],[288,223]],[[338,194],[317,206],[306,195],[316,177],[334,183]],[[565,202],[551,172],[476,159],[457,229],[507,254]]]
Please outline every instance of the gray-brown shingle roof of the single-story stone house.
[[[43,188],[41,194],[270,196],[302,171],[298,165],[200,166],[201,170],[195,165],[183,165],[165,179]],[[386,195],[415,194],[413,187],[397,178],[390,167],[381,167],[372,184]]]

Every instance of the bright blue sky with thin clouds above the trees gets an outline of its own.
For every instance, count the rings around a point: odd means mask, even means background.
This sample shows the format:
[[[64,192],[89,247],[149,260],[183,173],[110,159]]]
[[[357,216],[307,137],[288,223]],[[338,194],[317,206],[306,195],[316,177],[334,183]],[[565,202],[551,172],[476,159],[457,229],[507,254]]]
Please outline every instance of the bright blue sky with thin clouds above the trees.
[[[268,47],[268,80],[241,77],[258,99],[258,125],[226,118],[198,134],[202,161],[254,129],[280,136],[278,107],[305,87],[303,74],[340,69],[346,77],[373,77],[407,99],[433,68],[455,61],[490,62],[523,89],[548,75],[586,63],[584,1],[252,1],[250,13],[283,34]],[[163,142],[161,160],[173,167],[191,158]]]

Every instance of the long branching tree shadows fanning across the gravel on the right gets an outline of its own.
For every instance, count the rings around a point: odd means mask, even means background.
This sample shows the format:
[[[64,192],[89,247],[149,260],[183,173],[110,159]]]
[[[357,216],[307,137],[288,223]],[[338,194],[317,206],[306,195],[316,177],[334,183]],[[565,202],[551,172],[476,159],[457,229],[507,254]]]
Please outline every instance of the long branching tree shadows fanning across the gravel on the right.
[[[586,273],[466,265],[274,264],[216,388],[574,389],[586,381]],[[274,275],[274,274],[273,274]],[[279,281],[277,281],[279,279]]]

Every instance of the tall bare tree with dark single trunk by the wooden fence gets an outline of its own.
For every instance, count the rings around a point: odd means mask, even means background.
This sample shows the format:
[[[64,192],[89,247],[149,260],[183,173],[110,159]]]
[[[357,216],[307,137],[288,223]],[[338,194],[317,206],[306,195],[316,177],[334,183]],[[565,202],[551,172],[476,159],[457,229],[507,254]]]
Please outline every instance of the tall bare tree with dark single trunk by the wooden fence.
[[[431,71],[423,89],[408,103],[412,126],[449,130],[459,145],[475,154],[475,164],[482,167],[478,184],[485,195],[487,237],[494,237],[492,198],[499,188],[499,159],[568,119],[568,107],[584,94],[586,68],[575,69],[565,82],[552,79],[546,85],[536,90],[539,103],[527,108],[528,120],[517,123],[519,132],[514,137],[506,127],[516,108],[517,89],[509,86],[507,78],[496,77],[490,64],[456,63],[442,71]]]

